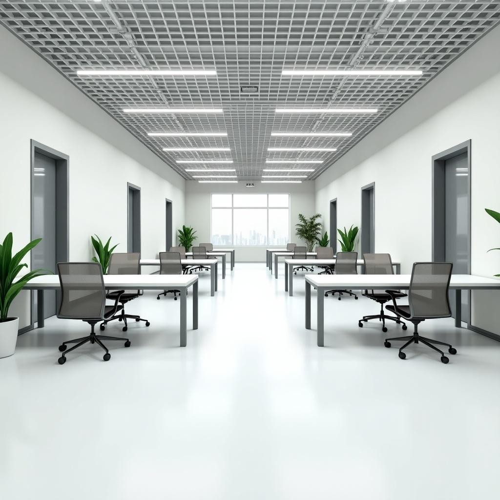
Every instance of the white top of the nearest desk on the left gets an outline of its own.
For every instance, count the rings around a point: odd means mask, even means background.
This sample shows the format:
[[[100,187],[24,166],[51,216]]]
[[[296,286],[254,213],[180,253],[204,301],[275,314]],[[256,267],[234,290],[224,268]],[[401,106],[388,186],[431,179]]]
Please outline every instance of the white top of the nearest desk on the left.
[[[106,274],[104,285],[106,288],[119,290],[156,290],[168,288],[187,288],[198,279],[197,274]],[[59,276],[47,274],[31,279],[24,286],[25,289],[58,289]]]

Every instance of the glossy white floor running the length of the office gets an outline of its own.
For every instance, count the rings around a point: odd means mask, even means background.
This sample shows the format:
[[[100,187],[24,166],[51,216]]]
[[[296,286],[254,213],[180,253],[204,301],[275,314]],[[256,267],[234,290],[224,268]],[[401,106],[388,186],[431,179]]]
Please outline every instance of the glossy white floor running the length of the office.
[[[132,323],[108,362],[89,346],[57,364],[57,345],[87,332],[78,321],[19,337],[0,360],[2,500],[498,496],[499,343],[427,321],[458,353],[444,365],[413,346],[402,361],[378,323],[358,328],[377,310],[361,297],[326,299],[319,348],[301,278],[288,297],[282,275],[237,263],[214,298],[200,279],[185,348],[178,301],[152,293],[128,308],[151,326]]]

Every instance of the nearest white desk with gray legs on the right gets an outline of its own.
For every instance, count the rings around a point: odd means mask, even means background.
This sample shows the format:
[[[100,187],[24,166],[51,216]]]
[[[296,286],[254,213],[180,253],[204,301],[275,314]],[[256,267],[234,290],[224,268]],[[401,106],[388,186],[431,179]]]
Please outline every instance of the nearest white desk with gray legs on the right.
[[[324,345],[324,292],[327,290],[398,290],[408,289],[410,274],[306,274],[305,275],[305,327],[311,327],[311,286],[316,288],[317,345]],[[455,326],[461,326],[462,290],[497,290],[500,279],[471,274],[452,274],[449,289],[455,290]],[[341,302],[334,300],[335,304]]]

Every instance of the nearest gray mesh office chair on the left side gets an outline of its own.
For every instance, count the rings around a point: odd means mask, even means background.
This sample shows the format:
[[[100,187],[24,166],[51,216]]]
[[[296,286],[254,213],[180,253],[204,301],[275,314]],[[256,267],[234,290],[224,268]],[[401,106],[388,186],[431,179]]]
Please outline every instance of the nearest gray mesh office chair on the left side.
[[[113,305],[106,305],[106,290],[102,277],[102,268],[97,262],[59,262],[57,264],[59,283],[61,286],[61,301],[57,317],[62,319],[80,319],[90,325],[90,335],[86,337],[65,340],[59,345],[61,356],[57,359],[59,364],[66,362],[66,354],[77,349],[84,343],[96,343],[106,352],[104,361],[109,361],[111,354],[101,340],[124,341],[125,347],[130,347],[128,338],[110,337],[107,335],[96,335],[94,328],[96,323],[113,316],[123,305],[119,303],[125,290],[115,292]],[[68,343],[74,343],[67,348]]]

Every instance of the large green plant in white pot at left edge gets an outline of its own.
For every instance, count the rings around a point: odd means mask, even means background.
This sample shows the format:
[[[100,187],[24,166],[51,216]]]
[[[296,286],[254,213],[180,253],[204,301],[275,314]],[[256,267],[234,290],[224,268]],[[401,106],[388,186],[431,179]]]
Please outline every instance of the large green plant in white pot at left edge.
[[[12,233],[9,232],[0,245],[0,357],[11,356],[15,350],[19,318],[8,315],[12,300],[22,290],[22,287],[35,276],[49,274],[45,269],[35,269],[26,272],[14,282],[19,271],[27,264],[21,264],[26,253],[34,248],[41,238],[33,239],[22,250],[12,256]]]

